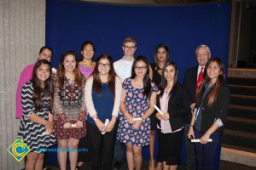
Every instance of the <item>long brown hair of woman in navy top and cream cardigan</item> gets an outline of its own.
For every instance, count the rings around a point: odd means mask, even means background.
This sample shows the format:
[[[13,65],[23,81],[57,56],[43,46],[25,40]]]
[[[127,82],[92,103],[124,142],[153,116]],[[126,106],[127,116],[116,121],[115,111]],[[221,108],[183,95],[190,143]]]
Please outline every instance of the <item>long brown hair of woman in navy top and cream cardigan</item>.
[[[100,79],[100,73],[99,73],[99,62],[101,59],[108,59],[108,62],[110,64],[109,72],[108,72],[108,87],[110,88],[111,93],[113,94],[113,97],[115,96],[115,77],[116,74],[113,69],[113,59],[109,54],[101,54],[96,59],[96,66],[93,71],[93,84],[92,88],[96,90],[96,94],[100,95],[102,94],[102,82]]]

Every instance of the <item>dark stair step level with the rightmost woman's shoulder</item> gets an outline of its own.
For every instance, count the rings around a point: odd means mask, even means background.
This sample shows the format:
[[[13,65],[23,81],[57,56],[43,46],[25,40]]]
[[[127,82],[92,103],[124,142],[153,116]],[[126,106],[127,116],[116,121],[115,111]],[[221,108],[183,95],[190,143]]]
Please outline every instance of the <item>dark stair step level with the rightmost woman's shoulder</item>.
[[[228,84],[231,94],[256,96],[256,87]]]

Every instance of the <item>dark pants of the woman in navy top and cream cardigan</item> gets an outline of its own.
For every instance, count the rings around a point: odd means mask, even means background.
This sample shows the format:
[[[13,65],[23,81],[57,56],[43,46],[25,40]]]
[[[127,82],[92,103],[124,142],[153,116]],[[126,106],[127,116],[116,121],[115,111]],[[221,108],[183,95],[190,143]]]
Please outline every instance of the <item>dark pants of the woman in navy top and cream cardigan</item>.
[[[102,134],[96,125],[88,122],[88,133],[91,142],[91,169],[111,170],[113,161],[113,144],[118,123],[109,133]]]

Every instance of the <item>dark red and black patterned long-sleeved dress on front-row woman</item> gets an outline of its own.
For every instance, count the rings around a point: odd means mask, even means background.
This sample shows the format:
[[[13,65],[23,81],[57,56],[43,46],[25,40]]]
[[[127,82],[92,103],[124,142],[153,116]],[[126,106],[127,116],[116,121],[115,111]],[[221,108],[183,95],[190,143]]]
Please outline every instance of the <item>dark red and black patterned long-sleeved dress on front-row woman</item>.
[[[73,81],[72,83],[65,77],[64,85],[60,89],[56,75],[55,94],[54,94],[54,111],[55,111],[55,137],[57,139],[80,139],[86,134],[86,111],[84,103],[84,83],[85,77],[82,76],[82,88]],[[77,121],[83,122],[81,128],[64,128],[66,122],[75,124]]]

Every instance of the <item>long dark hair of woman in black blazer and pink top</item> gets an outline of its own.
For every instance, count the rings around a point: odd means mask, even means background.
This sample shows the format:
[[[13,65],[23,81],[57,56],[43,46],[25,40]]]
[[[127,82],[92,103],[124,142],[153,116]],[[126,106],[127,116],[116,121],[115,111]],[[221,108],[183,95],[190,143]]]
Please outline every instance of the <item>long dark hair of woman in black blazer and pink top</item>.
[[[160,82],[160,85],[159,85],[160,96],[162,96],[164,94],[164,91],[165,91],[166,86],[167,86],[165,71],[166,71],[166,67],[169,66],[169,65],[172,65],[174,67],[174,70],[175,70],[173,85],[172,85],[172,89],[171,89],[171,92],[169,93],[169,95],[171,95],[172,92],[175,92],[175,90],[177,88],[177,74],[178,74],[177,65],[173,61],[167,62],[163,67],[163,74],[162,74],[161,82]]]

